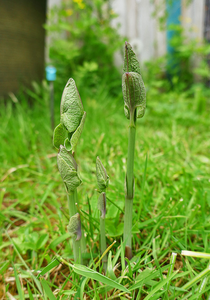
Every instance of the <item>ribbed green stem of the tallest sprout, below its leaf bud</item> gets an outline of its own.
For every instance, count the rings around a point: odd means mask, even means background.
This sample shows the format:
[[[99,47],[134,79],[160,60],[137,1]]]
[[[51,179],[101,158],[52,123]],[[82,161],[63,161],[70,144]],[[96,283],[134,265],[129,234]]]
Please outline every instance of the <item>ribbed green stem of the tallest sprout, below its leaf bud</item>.
[[[128,160],[126,171],[126,189],[125,197],[125,220],[123,241],[126,241],[125,255],[128,259],[132,258],[132,213],[133,213],[133,197],[134,197],[134,154],[135,154],[135,136],[136,136],[136,110],[130,114],[130,123],[128,131]]]

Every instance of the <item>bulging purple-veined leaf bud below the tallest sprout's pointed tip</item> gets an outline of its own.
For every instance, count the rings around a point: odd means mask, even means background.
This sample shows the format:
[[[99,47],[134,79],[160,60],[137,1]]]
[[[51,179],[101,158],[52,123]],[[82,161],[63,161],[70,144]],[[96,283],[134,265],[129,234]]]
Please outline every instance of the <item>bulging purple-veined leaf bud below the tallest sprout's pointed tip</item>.
[[[140,114],[137,113],[137,118],[143,117],[146,107],[146,90],[140,74],[135,72],[124,73],[122,88],[125,102],[124,110],[127,119],[133,116],[137,107],[140,107],[141,112]]]

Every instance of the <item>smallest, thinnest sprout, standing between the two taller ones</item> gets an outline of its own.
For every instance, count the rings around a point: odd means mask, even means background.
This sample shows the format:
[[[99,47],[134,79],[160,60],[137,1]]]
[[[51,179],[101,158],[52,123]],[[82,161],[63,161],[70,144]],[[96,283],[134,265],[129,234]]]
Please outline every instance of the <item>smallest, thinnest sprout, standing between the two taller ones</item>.
[[[98,205],[97,208],[101,211],[100,217],[100,239],[101,239],[101,253],[106,250],[106,231],[105,231],[105,214],[106,214],[106,187],[109,184],[109,176],[107,175],[106,169],[100,161],[99,157],[96,158],[96,176],[99,191]],[[103,257],[104,269],[107,269],[107,254]]]

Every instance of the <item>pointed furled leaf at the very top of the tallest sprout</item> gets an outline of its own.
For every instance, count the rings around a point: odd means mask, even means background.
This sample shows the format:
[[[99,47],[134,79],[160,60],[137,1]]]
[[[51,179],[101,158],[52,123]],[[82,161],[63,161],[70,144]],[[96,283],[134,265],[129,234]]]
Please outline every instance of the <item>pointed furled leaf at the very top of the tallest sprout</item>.
[[[138,58],[135,55],[132,46],[128,42],[125,44],[125,56],[123,62],[123,73],[126,72],[136,72],[141,75]]]

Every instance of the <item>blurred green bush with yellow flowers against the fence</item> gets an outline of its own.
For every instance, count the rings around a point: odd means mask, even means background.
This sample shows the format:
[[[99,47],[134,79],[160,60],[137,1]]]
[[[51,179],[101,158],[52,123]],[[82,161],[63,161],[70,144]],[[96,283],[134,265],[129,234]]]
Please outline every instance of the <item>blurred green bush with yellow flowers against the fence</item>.
[[[114,53],[124,42],[111,27],[115,16],[108,0],[62,1],[50,11],[45,28],[59,91],[70,77],[81,93],[92,94],[99,85],[112,95],[120,91],[121,75],[114,66]]]

